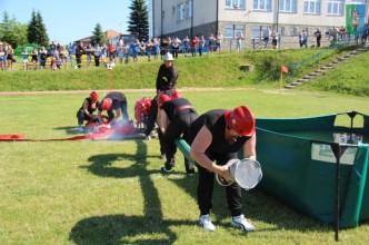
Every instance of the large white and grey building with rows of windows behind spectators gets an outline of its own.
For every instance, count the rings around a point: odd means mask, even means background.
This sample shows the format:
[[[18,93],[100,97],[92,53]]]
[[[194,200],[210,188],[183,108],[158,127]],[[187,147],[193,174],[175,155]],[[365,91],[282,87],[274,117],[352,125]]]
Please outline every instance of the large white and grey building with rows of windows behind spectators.
[[[368,24],[367,1],[151,0],[152,36],[162,39],[168,36],[183,38],[203,35],[207,38],[211,33],[222,33],[223,45],[231,47],[239,33],[249,46],[251,39],[261,39],[271,29],[278,30],[281,48],[293,47],[298,45],[302,30],[310,38],[318,28],[322,33],[329,33],[333,27],[347,30],[350,18],[355,22],[355,17],[348,11],[350,8],[360,9],[361,13],[357,17],[361,26]]]

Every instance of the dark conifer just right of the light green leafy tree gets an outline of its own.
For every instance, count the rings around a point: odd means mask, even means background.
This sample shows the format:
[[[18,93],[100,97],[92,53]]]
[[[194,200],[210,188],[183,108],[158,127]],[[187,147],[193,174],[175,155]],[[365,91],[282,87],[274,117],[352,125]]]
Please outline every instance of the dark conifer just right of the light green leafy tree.
[[[27,39],[30,43],[38,43],[40,46],[49,45],[49,37],[47,35],[40,11],[37,13],[34,10],[32,11],[31,20],[27,28]]]

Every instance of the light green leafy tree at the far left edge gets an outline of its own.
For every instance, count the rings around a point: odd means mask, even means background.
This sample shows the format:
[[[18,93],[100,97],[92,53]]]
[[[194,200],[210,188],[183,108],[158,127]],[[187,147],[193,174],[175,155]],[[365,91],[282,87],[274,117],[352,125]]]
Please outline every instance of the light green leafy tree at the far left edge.
[[[17,48],[27,42],[27,26],[19,23],[16,18],[10,19],[7,11],[3,12],[0,23],[0,40]]]

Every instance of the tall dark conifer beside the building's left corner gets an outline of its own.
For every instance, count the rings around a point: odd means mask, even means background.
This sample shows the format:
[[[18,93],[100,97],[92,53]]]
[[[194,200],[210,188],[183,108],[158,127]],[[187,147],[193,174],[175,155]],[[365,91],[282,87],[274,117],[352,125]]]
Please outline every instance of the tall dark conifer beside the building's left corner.
[[[137,35],[140,41],[149,38],[149,11],[146,0],[132,0],[129,7],[131,10],[128,21],[128,32]]]

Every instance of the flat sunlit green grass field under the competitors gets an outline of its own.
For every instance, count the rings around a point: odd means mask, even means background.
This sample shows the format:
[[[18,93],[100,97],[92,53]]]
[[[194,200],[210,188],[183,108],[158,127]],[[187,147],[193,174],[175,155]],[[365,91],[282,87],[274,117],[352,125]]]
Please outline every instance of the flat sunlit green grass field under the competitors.
[[[357,110],[369,98],[275,88],[182,90],[201,114],[249,106],[256,117],[303,117]],[[86,95],[0,96],[0,134],[30,139],[77,135]],[[103,96],[103,92],[100,92]],[[137,99],[127,92],[130,117]],[[158,140],[0,143],[0,244],[337,244],[333,227],[256,188],[243,214],[258,228],[230,227],[223,188],[216,185],[213,233],[198,226],[197,174],[160,174]],[[369,224],[340,231],[340,244],[367,244]]]

